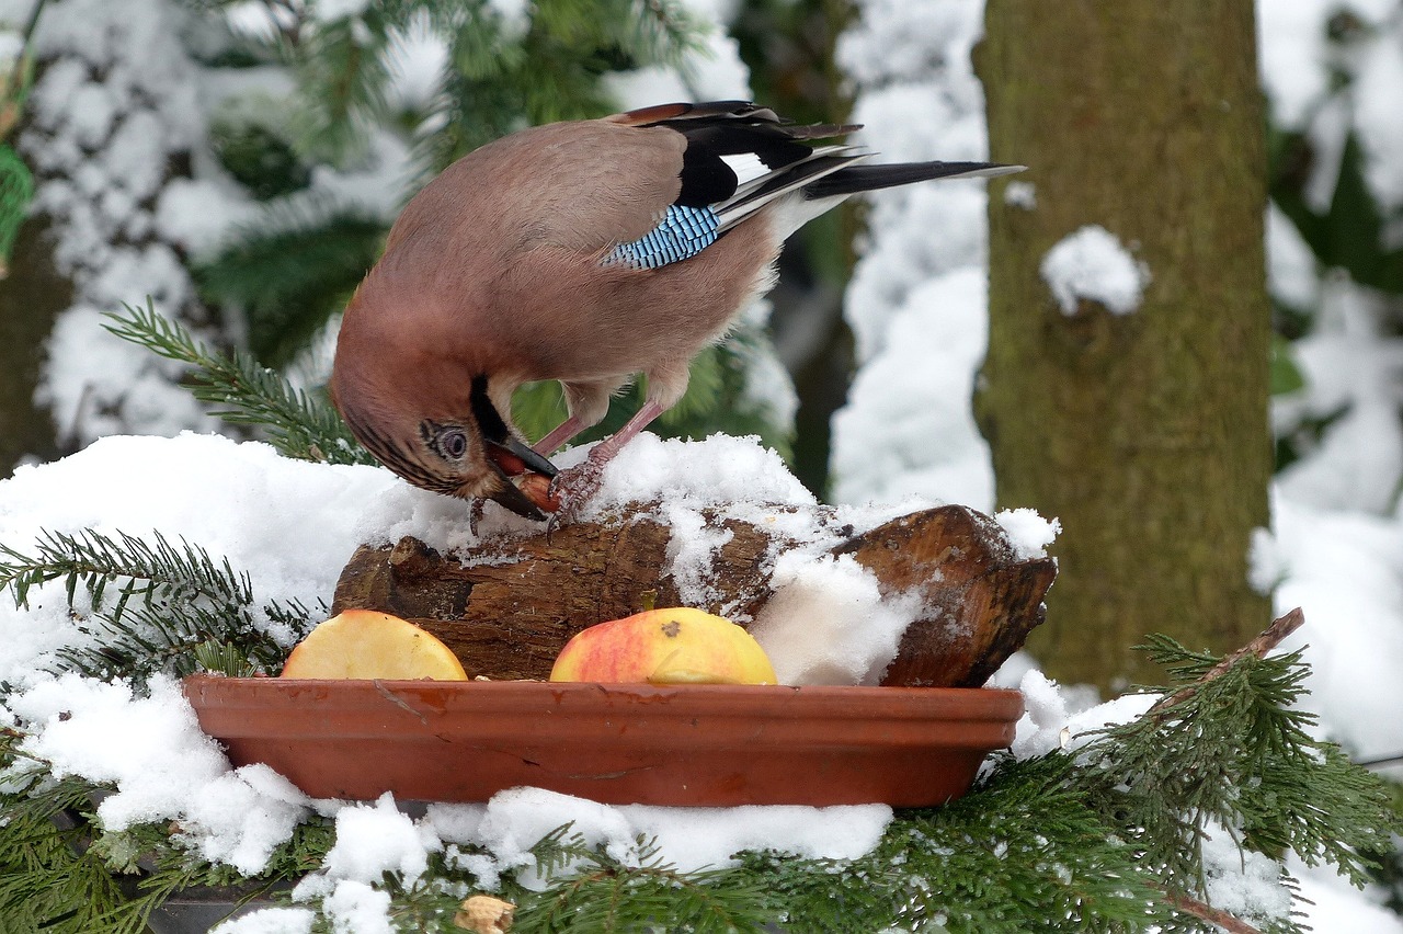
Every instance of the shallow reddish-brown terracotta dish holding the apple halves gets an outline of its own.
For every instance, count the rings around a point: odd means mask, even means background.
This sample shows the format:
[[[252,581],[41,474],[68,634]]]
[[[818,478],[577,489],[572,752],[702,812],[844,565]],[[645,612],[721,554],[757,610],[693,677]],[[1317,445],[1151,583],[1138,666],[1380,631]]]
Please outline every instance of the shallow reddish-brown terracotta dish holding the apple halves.
[[[1017,691],[957,687],[185,679],[236,766],[316,798],[943,804],[1013,740]]]

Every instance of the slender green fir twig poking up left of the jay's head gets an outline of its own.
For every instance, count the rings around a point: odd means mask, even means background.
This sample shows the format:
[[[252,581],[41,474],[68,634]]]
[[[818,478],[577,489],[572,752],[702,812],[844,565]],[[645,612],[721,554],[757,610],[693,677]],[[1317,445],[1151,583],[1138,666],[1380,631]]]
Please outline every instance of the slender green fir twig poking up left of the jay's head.
[[[166,359],[191,366],[195,398],[227,407],[213,412],[219,418],[264,428],[269,443],[288,457],[333,464],[376,463],[335,410],[293,388],[248,355],[209,349],[178,323],[156,314],[150,299],[146,309],[123,307],[126,316],[108,316],[111,323],[107,330]]]

